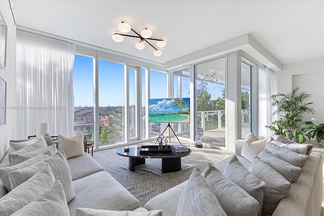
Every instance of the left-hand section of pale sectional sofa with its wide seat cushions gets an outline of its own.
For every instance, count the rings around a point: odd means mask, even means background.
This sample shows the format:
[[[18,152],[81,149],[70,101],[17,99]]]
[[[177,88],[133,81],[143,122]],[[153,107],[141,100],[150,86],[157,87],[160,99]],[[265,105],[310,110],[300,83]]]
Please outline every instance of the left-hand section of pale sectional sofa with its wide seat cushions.
[[[10,166],[8,160],[10,152],[9,150],[0,162],[0,167]],[[88,153],[69,158],[67,163],[76,194],[68,202],[70,215],[75,215],[78,207],[106,210],[134,210],[140,207],[140,202],[108,172],[104,171],[103,167]],[[0,198],[6,194],[8,194],[6,187],[0,181]],[[137,211],[143,210],[147,211],[144,208],[137,209]]]

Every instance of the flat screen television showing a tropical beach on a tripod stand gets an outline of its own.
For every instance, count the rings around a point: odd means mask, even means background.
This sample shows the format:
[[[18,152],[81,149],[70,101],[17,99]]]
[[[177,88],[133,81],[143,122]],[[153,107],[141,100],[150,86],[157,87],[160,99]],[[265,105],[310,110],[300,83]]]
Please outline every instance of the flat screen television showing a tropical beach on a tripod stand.
[[[189,98],[148,99],[149,122],[190,123]]]

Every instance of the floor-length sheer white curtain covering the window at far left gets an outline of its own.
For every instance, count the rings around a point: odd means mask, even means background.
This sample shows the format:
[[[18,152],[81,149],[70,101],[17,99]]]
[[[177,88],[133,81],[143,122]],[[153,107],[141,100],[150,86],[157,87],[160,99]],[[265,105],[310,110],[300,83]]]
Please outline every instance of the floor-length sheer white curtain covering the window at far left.
[[[51,136],[73,135],[74,54],[73,44],[17,30],[19,139],[37,135],[39,122],[49,122]]]

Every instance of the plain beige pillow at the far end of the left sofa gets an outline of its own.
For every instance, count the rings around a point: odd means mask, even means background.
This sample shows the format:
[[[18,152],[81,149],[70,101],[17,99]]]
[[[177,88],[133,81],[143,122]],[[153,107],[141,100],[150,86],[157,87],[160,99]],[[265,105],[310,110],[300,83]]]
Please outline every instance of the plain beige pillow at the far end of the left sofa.
[[[77,134],[72,138],[59,134],[58,150],[63,150],[66,158],[76,157],[85,153],[83,144],[83,133]]]

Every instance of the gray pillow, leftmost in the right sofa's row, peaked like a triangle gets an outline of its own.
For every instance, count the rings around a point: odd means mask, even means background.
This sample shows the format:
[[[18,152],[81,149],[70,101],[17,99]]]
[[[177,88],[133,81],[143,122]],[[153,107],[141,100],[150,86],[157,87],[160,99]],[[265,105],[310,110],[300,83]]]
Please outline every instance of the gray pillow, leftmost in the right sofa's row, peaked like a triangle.
[[[197,203],[199,203],[198,208]],[[210,184],[201,176],[199,168],[192,171],[181,193],[176,215],[226,215]]]

